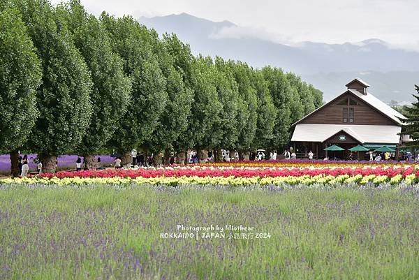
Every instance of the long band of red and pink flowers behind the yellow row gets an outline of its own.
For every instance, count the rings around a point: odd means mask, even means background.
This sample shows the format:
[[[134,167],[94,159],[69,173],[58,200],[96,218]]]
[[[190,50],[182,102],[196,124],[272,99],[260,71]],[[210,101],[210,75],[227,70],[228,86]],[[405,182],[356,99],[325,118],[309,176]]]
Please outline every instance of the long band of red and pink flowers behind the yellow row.
[[[416,168],[418,166],[418,168]],[[416,174],[419,172],[419,165],[394,165],[394,166],[365,166],[344,167],[344,168],[214,168],[203,165],[188,167],[166,167],[166,168],[140,168],[137,170],[109,169],[109,170],[87,170],[78,172],[57,172],[56,174],[43,174],[41,177],[52,178],[72,178],[72,177],[92,177],[92,178],[111,178],[111,177],[136,177],[154,178],[154,177],[300,177],[317,175],[376,175],[394,177],[395,175]],[[419,174],[419,173],[418,173]]]

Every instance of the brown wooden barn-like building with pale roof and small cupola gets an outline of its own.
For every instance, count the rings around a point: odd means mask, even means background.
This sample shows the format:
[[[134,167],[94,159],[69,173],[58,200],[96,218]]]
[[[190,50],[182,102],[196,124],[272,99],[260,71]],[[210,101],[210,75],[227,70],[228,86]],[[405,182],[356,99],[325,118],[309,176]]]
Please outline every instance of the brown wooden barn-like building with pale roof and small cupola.
[[[338,145],[350,149],[362,145],[374,150],[383,145],[397,149],[402,139],[399,118],[402,114],[369,93],[369,84],[356,78],[346,84],[346,91],[293,124],[291,142],[298,157],[311,150],[314,158],[323,159],[325,147]],[[349,152],[337,152],[348,159]],[[360,159],[367,155],[360,153]]]

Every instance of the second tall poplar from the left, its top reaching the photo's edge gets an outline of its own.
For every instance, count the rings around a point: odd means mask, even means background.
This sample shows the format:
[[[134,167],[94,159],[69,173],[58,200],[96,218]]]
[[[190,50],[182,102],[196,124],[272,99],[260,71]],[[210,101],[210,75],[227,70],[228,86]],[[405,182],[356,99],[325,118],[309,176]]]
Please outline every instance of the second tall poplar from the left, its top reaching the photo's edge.
[[[31,138],[45,172],[54,172],[57,156],[73,151],[90,124],[91,78],[65,22],[48,1],[17,0],[41,58],[43,78],[36,91],[40,112]]]

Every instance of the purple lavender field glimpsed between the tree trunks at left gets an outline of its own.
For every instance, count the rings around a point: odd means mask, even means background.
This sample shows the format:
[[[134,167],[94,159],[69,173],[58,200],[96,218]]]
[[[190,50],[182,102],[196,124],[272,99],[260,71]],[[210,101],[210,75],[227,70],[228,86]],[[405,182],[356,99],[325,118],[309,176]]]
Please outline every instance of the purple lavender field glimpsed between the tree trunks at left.
[[[21,154],[21,156],[24,156]],[[29,159],[29,170],[35,171],[36,170],[36,163],[34,163],[34,159],[36,159],[36,154],[28,154]],[[110,155],[106,156],[96,156],[97,158],[101,158],[103,165],[109,165],[113,163],[114,159],[110,157]],[[62,169],[74,169],[75,168],[75,161],[77,160],[78,156],[74,154],[66,154],[63,156],[58,157],[58,165],[57,168],[59,170]],[[81,159],[83,160],[83,157],[81,156]],[[1,174],[7,174],[10,172],[10,156],[8,154],[1,154],[0,155],[0,173]]]

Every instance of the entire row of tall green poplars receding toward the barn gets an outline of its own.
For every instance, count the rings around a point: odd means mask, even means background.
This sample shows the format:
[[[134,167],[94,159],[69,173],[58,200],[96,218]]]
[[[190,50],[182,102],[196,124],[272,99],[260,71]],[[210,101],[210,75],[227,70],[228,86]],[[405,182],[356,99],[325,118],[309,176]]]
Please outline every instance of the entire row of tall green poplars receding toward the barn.
[[[1,1],[0,79],[0,151],[13,170],[19,149],[45,172],[59,154],[89,163],[104,148],[280,149],[322,104],[293,73],[193,56],[175,34],[95,17],[78,0]]]

